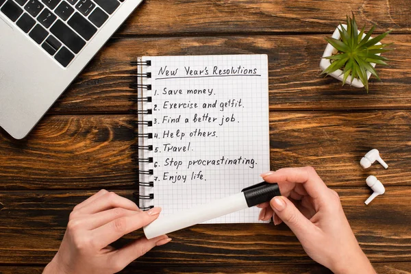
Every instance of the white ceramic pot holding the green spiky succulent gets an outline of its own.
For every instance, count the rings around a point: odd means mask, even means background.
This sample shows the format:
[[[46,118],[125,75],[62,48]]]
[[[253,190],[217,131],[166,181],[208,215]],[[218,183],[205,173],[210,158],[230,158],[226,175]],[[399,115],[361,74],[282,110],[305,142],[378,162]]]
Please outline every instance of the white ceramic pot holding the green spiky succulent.
[[[345,29],[347,29],[347,25],[343,24],[343,27]],[[332,34],[332,38],[335,38],[337,40],[340,40],[341,36],[340,36],[340,32],[338,32],[338,29],[341,29],[341,25],[339,25],[338,27],[336,27],[336,30],[334,31],[334,34]],[[358,33],[360,33],[360,31],[358,31]],[[366,34],[362,34],[362,37],[366,36]],[[372,37],[370,37],[371,39]],[[377,42],[376,45],[381,45],[380,42]],[[322,71],[324,71],[325,69],[327,69],[327,67],[329,67],[331,65],[331,62],[329,59],[325,59],[324,57],[327,56],[331,56],[332,54],[337,53],[337,50],[331,45],[331,44],[327,44],[327,47],[325,47],[325,51],[323,53],[323,58],[321,58],[321,62],[320,62],[320,68]],[[379,55],[379,53],[377,54]],[[370,63],[371,66],[375,67],[374,63]],[[343,75],[343,71],[341,71],[340,69],[334,71],[334,73],[330,73],[329,75],[331,75],[332,77],[340,80],[341,82],[343,82],[344,79],[344,75]],[[371,72],[366,71],[366,78],[369,79],[371,76]],[[351,86],[355,86],[356,88],[363,88],[364,84],[362,84],[362,82],[357,79],[354,78],[353,80],[351,79],[351,75],[349,75],[349,77],[347,78],[347,81],[345,81],[346,84],[350,84]]]

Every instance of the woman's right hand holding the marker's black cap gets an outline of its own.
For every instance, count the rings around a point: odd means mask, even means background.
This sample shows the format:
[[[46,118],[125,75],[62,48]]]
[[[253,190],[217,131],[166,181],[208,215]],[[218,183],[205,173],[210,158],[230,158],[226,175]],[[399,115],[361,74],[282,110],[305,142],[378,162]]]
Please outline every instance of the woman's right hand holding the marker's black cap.
[[[273,217],[275,225],[284,221],[308,256],[334,273],[375,273],[349,226],[337,192],[327,188],[312,167],[279,169],[262,177],[278,183],[283,196],[259,206],[261,220]]]

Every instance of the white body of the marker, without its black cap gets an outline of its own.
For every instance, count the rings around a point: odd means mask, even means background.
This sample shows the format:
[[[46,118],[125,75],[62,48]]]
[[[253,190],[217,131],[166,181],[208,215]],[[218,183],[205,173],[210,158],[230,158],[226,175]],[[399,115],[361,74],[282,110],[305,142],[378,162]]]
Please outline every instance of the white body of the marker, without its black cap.
[[[245,208],[248,208],[247,201],[245,200],[244,193],[240,192],[236,195],[196,206],[182,212],[159,216],[153,223],[143,227],[143,230],[147,239],[151,239]]]

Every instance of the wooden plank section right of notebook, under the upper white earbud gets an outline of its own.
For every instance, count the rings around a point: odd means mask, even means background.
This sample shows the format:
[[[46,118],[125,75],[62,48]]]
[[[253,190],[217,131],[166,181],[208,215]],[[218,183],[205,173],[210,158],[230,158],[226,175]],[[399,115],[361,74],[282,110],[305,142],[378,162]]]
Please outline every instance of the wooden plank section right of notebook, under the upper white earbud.
[[[411,115],[404,111],[271,112],[271,169],[315,167],[329,186],[365,187],[369,175],[385,186],[409,185]],[[379,149],[388,169],[360,160]]]

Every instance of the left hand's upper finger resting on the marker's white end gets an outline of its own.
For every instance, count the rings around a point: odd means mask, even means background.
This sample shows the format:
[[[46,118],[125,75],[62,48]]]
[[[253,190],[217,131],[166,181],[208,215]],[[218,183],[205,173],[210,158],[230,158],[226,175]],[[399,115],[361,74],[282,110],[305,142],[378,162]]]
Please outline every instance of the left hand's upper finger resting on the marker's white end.
[[[92,238],[95,239],[95,247],[102,249],[125,234],[148,225],[158,218],[160,212],[161,208],[151,208],[149,211],[136,212],[133,216],[123,216],[93,229],[91,232]]]

